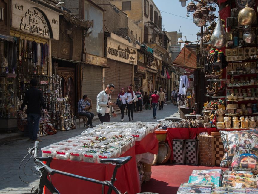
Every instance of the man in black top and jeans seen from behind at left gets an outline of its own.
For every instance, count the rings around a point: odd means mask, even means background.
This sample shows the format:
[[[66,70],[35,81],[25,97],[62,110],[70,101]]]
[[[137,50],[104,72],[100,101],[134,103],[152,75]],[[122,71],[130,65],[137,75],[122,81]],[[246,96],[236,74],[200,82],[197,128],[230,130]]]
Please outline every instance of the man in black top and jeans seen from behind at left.
[[[27,104],[27,119],[28,130],[30,139],[28,141],[42,141],[38,139],[39,131],[39,119],[40,119],[40,103],[43,106],[44,112],[47,114],[47,107],[44,102],[43,93],[37,89],[38,81],[36,79],[30,80],[31,88],[25,92],[23,103],[21,104],[20,111],[23,110],[25,104]]]

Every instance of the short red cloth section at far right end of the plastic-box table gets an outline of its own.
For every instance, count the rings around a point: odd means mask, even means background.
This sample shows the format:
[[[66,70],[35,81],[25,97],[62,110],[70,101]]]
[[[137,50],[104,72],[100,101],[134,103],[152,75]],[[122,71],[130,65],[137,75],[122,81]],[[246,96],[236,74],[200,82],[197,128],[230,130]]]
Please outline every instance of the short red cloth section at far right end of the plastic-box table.
[[[155,133],[148,134],[141,141],[135,142],[135,154],[150,152],[158,154],[159,141]]]

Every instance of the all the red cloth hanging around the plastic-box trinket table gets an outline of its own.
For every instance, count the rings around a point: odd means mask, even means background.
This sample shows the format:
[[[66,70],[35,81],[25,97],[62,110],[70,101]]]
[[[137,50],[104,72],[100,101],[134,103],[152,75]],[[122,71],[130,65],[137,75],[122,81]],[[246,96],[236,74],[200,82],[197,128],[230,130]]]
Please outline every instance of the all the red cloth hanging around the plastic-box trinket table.
[[[153,154],[157,154],[158,140],[156,138],[155,133],[148,134],[140,142],[136,142],[135,146],[133,146],[121,155],[121,157],[132,156],[132,159],[125,165],[121,166],[116,174],[117,181],[114,185],[122,193],[125,193],[127,191],[131,194],[139,193],[141,191],[139,173],[135,157],[136,152],[151,152]],[[115,166],[112,164],[86,163],[70,160],[53,159],[50,167],[56,170],[61,170],[64,172],[69,172],[84,177],[98,179],[101,181],[110,181]],[[52,175],[51,180],[53,185],[56,187],[57,190],[59,190],[60,193],[101,193],[102,185],[90,183],[88,181],[83,181],[59,174]],[[105,187],[105,191],[107,190],[107,187]],[[45,193],[50,194],[49,190],[47,189]]]

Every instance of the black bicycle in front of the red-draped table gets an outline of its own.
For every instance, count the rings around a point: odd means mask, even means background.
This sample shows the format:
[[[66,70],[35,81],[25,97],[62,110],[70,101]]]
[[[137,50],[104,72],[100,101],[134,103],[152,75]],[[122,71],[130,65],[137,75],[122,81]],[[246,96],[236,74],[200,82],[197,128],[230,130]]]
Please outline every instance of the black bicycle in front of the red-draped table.
[[[61,175],[65,175],[65,176],[69,176],[69,177],[78,178],[78,179],[81,179],[81,180],[93,182],[93,183],[96,183],[96,184],[101,184],[102,185],[102,194],[104,194],[104,187],[105,186],[108,187],[108,193],[107,194],[111,194],[112,191],[114,191],[116,194],[123,194],[114,186],[114,182],[116,181],[116,172],[117,172],[117,169],[119,167],[121,167],[122,165],[126,164],[129,160],[131,160],[131,158],[132,158],[131,156],[120,157],[120,158],[109,158],[109,159],[100,160],[101,163],[111,163],[111,164],[116,165],[115,168],[114,168],[111,180],[110,181],[107,181],[107,180],[106,181],[100,181],[100,180],[87,178],[87,177],[83,177],[83,176],[79,176],[79,175],[74,175],[74,174],[71,174],[71,173],[67,173],[67,172],[63,172],[63,171],[59,171],[59,170],[55,170],[55,169],[50,168],[50,163],[51,163],[53,158],[52,157],[38,157],[38,144],[39,144],[39,142],[35,141],[35,144],[34,144],[33,148],[27,148],[29,154],[31,154],[33,156],[34,163],[36,165],[36,170],[41,175],[38,188],[35,190],[34,189],[35,187],[33,186],[32,190],[31,190],[31,193],[33,191],[33,194],[42,194],[43,193],[43,188],[44,188],[44,186],[46,186],[46,188],[52,194],[60,194],[59,191],[54,187],[52,182],[47,179],[47,177],[49,175],[61,174]],[[29,155],[29,154],[27,154],[27,155]],[[24,159],[25,158],[26,158],[26,156],[24,157]],[[21,163],[23,162],[23,160],[21,161]],[[46,162],[46,164],[43,163],[43,162]],[[25,164],[25,166],[26,166],[26,164]],[[20,164],[20,166],[21,166],[21,164]],[[25,166],[24,166],[24,168],[25,168]],[[124,194],[128,194],[128,193],[125,192]],[[144,193],[138,193],[138,194],[158,194],[158,193],[144,192]]]

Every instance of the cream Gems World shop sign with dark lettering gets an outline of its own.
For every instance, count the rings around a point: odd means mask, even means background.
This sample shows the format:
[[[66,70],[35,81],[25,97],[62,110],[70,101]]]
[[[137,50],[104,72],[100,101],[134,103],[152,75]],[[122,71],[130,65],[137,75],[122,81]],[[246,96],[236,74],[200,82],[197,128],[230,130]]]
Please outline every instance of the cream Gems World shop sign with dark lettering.
[[[108,38],[107,57],[123,63],[137,64],[136,48]]]

